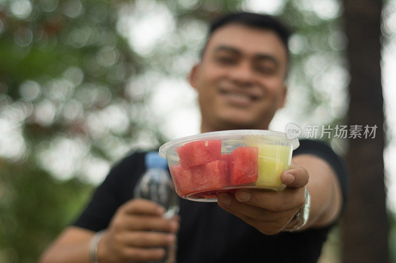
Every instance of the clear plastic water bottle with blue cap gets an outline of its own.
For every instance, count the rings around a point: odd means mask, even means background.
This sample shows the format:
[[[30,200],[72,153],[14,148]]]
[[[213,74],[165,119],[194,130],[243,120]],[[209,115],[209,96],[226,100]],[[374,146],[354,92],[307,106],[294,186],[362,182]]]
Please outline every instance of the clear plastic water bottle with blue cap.
[[[168,172],[168,163],[158,155],[158,152],[152,151],[146,154],[145,164],[147,170],[134,189],[134,197],[145,198],[162,205],[166,211],[165,217],[170,219],[179,213],[179,197]],[[165,248],[167,253],[164,259],[155,263],[171,262],[169,249]]]

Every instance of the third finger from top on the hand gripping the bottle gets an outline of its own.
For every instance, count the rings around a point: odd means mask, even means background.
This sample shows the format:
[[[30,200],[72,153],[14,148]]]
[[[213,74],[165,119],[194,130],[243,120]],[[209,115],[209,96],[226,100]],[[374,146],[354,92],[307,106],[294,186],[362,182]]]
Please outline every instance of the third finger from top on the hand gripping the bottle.
[[[128,246],[160,247],[175,244],[176,235],[152,231],[131,231],[124,233],[120,239]]]

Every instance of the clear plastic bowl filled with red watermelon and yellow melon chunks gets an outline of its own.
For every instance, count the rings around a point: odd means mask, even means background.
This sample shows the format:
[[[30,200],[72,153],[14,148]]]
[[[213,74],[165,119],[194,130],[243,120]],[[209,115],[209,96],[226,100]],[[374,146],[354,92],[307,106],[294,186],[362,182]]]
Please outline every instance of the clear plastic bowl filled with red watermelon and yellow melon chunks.
[[[298,139],[267,130],[201,133],[159,148],[176,192],[195,201],[216,202],[220,192],[240,188],[281,191],[281,173],[290,167]]]

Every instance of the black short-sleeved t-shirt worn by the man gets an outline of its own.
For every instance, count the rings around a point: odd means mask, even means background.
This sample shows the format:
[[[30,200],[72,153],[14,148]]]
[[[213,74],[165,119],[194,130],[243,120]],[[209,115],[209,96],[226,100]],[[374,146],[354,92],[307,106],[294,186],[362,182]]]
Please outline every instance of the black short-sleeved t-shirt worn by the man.
[[[326,144],[300,140],[293,155],[315,154],[336,171],[345,202],[347,177],[337,154]],[[123,159],[97,188],[76,226],[99,231],[109,224],[115,210],[130,200],[137,180],[145,171],[144,152]],[[302,232],[264,235],[217,203],[180,198],[182,222],[178,233],[178,263],[316,262],[331,226]]]

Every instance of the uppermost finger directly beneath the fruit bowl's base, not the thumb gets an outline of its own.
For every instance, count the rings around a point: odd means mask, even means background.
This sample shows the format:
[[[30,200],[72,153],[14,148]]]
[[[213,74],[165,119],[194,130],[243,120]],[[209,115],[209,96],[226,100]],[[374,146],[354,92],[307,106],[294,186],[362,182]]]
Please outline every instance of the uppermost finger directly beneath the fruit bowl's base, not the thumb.
[[[305,203],[304,188],[290,188],[280,192],[239,189],[235,192],[238,201],[268,209],[285,211],[301,207]]]

